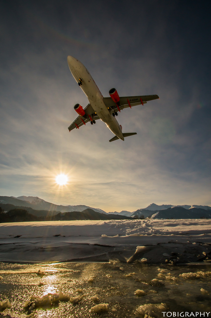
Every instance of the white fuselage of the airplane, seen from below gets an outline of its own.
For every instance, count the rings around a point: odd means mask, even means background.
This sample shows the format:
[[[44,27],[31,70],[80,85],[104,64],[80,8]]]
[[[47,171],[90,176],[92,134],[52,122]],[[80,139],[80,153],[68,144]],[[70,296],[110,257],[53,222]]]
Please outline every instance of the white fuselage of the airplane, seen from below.
[[[82,79],[82,85],[80,87],[87,96],[89,103],[98,117],[106,123],[112,133],[114,133],[118,138],[124,140],[122,129],[118,121],[112,116],[112,114],[110,114],[108,108],[104,104],[103,96],[86,67],[79,60],[70,55],[68,56],[67,61],[70,72],[76,82],[78,83],[80,81],[79,78]]]

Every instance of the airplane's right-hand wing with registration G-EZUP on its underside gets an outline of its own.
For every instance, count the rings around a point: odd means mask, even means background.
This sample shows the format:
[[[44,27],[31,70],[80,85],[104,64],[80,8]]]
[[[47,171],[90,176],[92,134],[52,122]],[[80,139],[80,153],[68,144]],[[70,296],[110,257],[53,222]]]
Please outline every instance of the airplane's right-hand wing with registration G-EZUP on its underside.
[[[128,108],[128,107],[132,107],[136,105],[143,105],[143,104],[146,104],[149,100],[155,100],[158,98],[159,98],[158,95],[140,95],[140,96],[120,97],[119,109],[122,110],[123,108]],[[103,97],[103,101],[105,105],[109,107],[110,113],[118,111],[118,107],[111,97]]]

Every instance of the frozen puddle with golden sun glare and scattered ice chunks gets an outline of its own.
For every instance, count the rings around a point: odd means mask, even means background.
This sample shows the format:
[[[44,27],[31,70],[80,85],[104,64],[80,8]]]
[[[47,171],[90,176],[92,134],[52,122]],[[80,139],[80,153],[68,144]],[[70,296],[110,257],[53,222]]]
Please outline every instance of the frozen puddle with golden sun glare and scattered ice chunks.
[[[211,266],[206,263],[0,263],[0,270],[2,315],[15,318],[211,312]]]

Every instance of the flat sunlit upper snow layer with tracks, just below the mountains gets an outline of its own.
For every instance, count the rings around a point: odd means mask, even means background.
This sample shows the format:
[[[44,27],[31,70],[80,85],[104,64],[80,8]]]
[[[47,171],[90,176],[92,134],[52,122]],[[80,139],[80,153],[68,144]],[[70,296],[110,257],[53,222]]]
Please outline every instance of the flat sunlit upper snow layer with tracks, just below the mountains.
[[[210,229],[211,219],[19,222],[1,223],[0,239],[203,234],[210,233]]]

